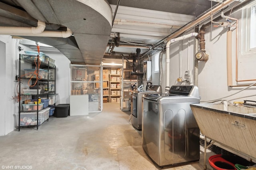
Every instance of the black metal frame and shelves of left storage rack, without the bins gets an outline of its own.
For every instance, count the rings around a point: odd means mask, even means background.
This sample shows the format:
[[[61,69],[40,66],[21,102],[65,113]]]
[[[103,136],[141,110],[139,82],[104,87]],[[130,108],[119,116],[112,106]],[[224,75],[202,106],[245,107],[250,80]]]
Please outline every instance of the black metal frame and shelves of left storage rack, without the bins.
[[[26,55],[28,56],[28,55]],[[33,57],[32,57],[33,58]],[[26,78],[26,77],[20,77],[21,76],[21,62],[24,62],[24,63],[28,63],[28,64],[31,64],[32,65],[32,68],[35,69],[37,68],[37,72],[39,72],[39,69],[45,69],[45,70],[48,70],[48,79],[38,79],[36,81],[37,78]],[[38,66],[40,63],[40,67],[36,67],[36,65]],[[50,79],[49,77],[49,70],[52,70],[54,72],[54,79]],[[32,81],[32,84],[35,84],[36,82],[36,89],[37,89],[37,94],[21,94],[21,79],[22,80],[31,80]],[[38,109],[38,102],[37,102],[37,110],[36,110],[36,113],[37,113],[37,123],[36,125],[25,125],[25,126],[20,126],[20,113],[28,113],[28,112],[35,112],[35,111],[24,111],[23,108],[22,108],[22,102],[21,101],[21,98],[22,96],[32,96],[31,98],[32,99],[38,99],[38,97],[44,97],[46,96],[46,98],[48,99],[49,98],[49,94],[56,94],[56,91],[55,91],[55,87],[56,87],[56,67],[54,64],[51,64],[51,66],[48,64],[48,63],[44,63],[42,61],[39,61],[39,57],[37,57],[37,61],[35,63],[35,60],[34,59],[24,59],[22,54],[19,55],[19,78],[18,78],[18,82],[19,82],[19,119],[18,119],[18,131],[20,131],[20,128],[22,127],[31,127],[31,126],[36,126],[36,129],[38,130],[38,112],[40,111]],[[48,87],[48,91],[47,92],[44,92],[42,94],[39,94],[39,82],[47,82],[47,87]],[[50,91],[50,87],[49,87],[49,82],[54,82],[54,91]],[[56,97],[56,96],[55,96]],[[54,104],[55,105],[55,101],[54,101]],[[47,119],[48,120],[48,119]]]

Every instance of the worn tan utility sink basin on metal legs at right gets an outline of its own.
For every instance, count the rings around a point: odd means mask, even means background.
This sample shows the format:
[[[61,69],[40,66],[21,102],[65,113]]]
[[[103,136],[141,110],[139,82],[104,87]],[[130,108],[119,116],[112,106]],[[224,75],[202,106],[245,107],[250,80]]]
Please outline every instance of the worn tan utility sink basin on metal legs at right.
[[[190,107],[203,135],[256,161],[256,108],[222,103]]]

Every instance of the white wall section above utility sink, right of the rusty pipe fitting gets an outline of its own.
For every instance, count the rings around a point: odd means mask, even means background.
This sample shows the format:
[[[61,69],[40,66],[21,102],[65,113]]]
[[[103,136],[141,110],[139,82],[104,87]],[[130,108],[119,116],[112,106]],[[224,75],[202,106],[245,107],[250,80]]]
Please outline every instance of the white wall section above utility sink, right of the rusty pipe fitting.
[[[239,29],[238,29],[238,61],[239,63],[247,63],[245,65],[238,65],[238,75],[240,79],[254,78],[256,79],[256,56],[245,57],[241,54],[241,11],[236,12],[231,15],[233,18],[239,19]],[[246,87],[228,87],[227,86],[227,67],[226,67],[226,31],[227,28],[219,27],[213,29],[212,38],[210,35],[210,27],[206,29],[206,51],[210,55],[210,59],[206,62],[199,63],[199,76],[198,76],[198,86],[200,89],[200,95],[202,96],[202,101],[213,100],[228,96],[238,92],[242,88]],[[235,31],[232,32],[232,77],[233,85],[242,84],[252,84],[254,82],[239,82],[235,81]],[[250,70],[250,71],[248,71]],[[245,72],[246,71],[246,72]],[[244,90],[234,96],[228,98],[228,100],[243,96],[248,96],[256,94],[256,88],[251,87],[248,90]],[[247,98],[247,100],[256,100],[256,96]],[[245,99],[239,99],[243,101]]]

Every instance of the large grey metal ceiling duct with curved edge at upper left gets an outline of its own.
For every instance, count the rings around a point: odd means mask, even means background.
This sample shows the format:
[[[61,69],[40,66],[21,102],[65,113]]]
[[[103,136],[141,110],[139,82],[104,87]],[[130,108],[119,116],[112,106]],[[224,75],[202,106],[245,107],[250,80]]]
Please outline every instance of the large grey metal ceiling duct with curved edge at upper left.
[[[4,4],[4,8],[0,7],[0,17],[9,20],[1,20],[0,26],[35,27],[36,21],[39,20],[46,23],[45,31],[52,29],[51,31],[61,32],[70,29],[74,36],[68,38],[20,35],[26,39],[56,47],[71,63],[95,65],[102,63],[112,24],[112,10],[105,0],[7,2],[6,4],[0,2]],[[7,8],[15,14],[10,14]],[[22,8],[24,10],[21,10]],[[11,20],[21,24],[14,24],[15,22]]]

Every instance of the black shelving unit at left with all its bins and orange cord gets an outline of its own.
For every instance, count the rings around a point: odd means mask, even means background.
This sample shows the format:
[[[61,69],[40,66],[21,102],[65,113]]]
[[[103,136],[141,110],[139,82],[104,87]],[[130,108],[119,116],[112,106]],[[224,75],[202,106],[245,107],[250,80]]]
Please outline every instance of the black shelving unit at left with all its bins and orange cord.
[[[20,107],[19,112],[15,114],[18,131],[20,127],[35,125],[38,129],[38,125],[48,120],[48,106],[49,102],[52,102],[50,97],[55,95],[55,61],[42,52],[39,53],[39,57],[37,51],[25,53],[19,55]],[[54,103],[55,101],[50,104]]]

